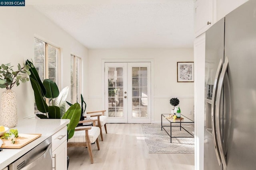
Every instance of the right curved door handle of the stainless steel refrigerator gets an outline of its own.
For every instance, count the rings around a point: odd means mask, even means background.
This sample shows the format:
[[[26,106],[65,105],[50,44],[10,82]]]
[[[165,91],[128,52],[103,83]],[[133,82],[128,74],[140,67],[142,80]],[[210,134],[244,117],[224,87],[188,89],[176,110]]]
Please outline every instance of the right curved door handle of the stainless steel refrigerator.
[[[224,64],[222,71],[220,73],[220,80],[218,83],[218,91],[216,95],[216,131],[217,131],[217,141],[218,141],[218,147],[220,151],[220,158],[222,160],[222,164],[224,167],[224,170],[227,168],[227,163],[226,163],[226,156],[224,154],[224,149],[223,149],[223,142],[222,142],[222,136],[221,136],[221,125],[220,125],[220,102],[221,102],[221,94],[223,90],[223,84],[224,84],[224,78],[226,76],[226,72],[228,69],[228,57],[225,58]]]

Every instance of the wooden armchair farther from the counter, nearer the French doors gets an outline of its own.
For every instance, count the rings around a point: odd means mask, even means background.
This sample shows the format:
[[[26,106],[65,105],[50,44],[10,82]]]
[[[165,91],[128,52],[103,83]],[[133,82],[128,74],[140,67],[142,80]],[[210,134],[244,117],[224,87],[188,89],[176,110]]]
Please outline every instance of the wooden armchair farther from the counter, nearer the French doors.
[[[102,135],[102,126],[105,127],[105,131],[107,132],[107,126],[106,126],[106,122],[108,117],[105,116],[105,111],[106,110],[100,110],[100,111],[91,111],[91,112],[87,112],[87,115],[91,116],[91,119],[93,120],[98,120],[96,122],[96,126],[98,126],[100,128],[100,138],[103,141],[103,135]],[[86,117],[86,116],[85,116]]]

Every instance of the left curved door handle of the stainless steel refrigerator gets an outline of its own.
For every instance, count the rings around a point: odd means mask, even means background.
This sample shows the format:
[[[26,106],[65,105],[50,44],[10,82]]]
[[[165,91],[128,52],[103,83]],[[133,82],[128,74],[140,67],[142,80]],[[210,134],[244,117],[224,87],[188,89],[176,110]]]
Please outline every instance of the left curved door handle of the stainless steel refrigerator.
[[[212,89],[212,107],[211,107],[211,118],[212,118],[212,138],[213,138],[213,142],[214,142],[214,149],[215,149],[215,153],[216,153],[216,157],[219,163],[219,166],[221,165],[221,158],[220,158],[220,152],[219,152],[219,148],[218,148],[218,143],[217,143],[217,135],[216,135],[216,121],[215,121],[215,104],[216,104],[216,93],[218,91],[218,81],[219,81],[219,77],[220,77],[220,73],[221,73],[221,69],[222,69],[222,59],[220,59],[218,68],[217,68],[217,72],[214,78],[214,84],[213,84],[213,89]]]

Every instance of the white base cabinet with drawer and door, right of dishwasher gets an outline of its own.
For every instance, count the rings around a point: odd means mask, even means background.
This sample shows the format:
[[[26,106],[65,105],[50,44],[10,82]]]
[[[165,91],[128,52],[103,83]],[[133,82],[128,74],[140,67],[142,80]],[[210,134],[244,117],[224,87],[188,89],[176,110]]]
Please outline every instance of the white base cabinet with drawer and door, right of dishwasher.
[[[67,127],[52,135],[52,170],[67,170]]]

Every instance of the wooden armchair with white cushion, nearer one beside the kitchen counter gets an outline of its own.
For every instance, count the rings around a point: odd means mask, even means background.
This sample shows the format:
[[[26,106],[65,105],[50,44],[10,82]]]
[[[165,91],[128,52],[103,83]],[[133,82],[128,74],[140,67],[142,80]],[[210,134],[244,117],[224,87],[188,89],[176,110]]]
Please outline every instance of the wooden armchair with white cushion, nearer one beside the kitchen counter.
[[[74,136],[68,140],[68,147],[87,147],[91,163],[93,164],[91,144],[96,141],[98,150],[100,150],[98,137],[100,128],[95,126],[97,120],[84,120],[79,123],[92,122],[93,126],[80,126],[75,128]]]

